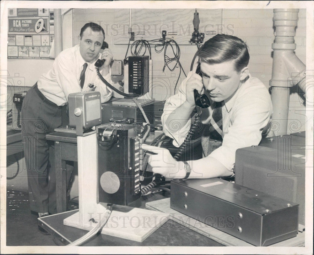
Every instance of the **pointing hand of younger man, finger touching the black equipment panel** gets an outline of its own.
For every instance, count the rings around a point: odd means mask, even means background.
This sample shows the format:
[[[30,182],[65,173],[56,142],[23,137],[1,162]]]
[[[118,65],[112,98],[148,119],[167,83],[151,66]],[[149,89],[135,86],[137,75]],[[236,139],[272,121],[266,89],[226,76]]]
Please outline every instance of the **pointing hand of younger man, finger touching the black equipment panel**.
[[[160,173],[165,178],[177,178],[180,176],[179,171],[182,169],[182,162],[176,161],[165,148],[155,147],[142,144],[143,150],[147,150],[156,154],[149,156],[149,165],[153,168],[154,173]],[[182,175],[182,173],[181,173]],[[183,177],[185,173],[183,174]]]

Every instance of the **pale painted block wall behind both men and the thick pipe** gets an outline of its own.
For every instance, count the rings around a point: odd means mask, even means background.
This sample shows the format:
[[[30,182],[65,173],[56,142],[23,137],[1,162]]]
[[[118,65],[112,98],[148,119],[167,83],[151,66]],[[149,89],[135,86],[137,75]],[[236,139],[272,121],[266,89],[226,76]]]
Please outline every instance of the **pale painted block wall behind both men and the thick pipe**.
[[[105,40],[109,43],[114,58],[123,59],[127,45],[113,44],[113,35],[116,33],[113,20],[114,9],[74,9],[73,44],[78,43],[77,36],[79,30],[86,22],[97,22],[105,29]],[[202,17],[200,17],[200,20],[202,22]],[[127,23],[128,17],[126,17]],[[273,9],[222,9],[222,33],[240,37],[247,43],[250,52],[250,73],[252,76],[258,77],[266,87],[269,87],[273,63],[271,48],[271,44],[274,41]],[[295,43],[297,45],[295,54],[306,63],[306,9],[300,9],[299,12]],[[191,61],[197,51],[197,47],[195,45],[180,45],[180,50],[180,62],[184,71],[187,73],[190,70]],[[168,53],[172,55],[170,51]],[[128,55],[130,55],[130,51]],[[164,100],[174,94],[179,68],[176,68],[172,72],[166,68],[163,73],[163,53],[157,54],[153,48],[152,59],[154,75],[153,96],[156,100]],[[181,73],[178,86],[184,78],[184,74]],[[292,89],[292,91],[297,91],[297,89]],[[304,100],[297,92],[291,93],[287,132],[303,131],[305,130],[305,123]]]

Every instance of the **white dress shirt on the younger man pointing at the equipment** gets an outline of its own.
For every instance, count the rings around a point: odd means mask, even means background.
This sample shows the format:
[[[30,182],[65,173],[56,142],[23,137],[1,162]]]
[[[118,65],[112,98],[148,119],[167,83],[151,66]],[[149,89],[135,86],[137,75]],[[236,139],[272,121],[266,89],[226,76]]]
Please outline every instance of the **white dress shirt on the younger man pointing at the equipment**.
[[[178,122],[172,122],[167,127],[165,122],[169,114],[186,101],[186,82],[193,72],[189,72],[183,80],[177,94],[165,102],[164,113],[161,116],[164,133],[174,138],[173,145],[179,146],[184,141],[191,127],[191,119],[184,127],[177,127]],[[214,105],[202,109],[201,121],[209,124]],[[236,150],[251,145],[258,145],[262,132],[267,130],[273,113],[272,102],[265,85],[257,78],[251,77],[242,82],[236,93],[224,101],[222,106],[223,142],[222,145],[208,156],[214,157],[229,171],[233,171]],[[177,128],[176,128],[177,127]],[[176,128],[176,132],[173,130]],[[177,141],[177,142],[176,142]],[[204,164],[206,168],[206,164]]]

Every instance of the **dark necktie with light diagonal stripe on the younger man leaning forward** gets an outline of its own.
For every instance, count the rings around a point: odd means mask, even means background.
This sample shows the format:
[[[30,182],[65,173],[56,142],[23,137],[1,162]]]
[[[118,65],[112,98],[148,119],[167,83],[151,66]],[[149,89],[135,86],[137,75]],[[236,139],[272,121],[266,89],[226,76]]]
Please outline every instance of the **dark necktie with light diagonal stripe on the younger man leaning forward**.
[[[217,102],[209,125],[206,125],[202,135],[204,156],[208,156],[222,144],[222,102]]]

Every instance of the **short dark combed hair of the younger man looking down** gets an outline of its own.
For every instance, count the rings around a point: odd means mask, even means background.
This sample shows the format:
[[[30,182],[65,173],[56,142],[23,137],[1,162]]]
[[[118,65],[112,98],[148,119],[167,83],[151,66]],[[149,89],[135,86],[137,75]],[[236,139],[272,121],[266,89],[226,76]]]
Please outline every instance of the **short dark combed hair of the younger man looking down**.
[[[241,71],[249,63],[250,55],[246,43],[240,38],[218,34],[204,43],[198,52],[201,61],[218,64],[236,59],[235,70]]]

